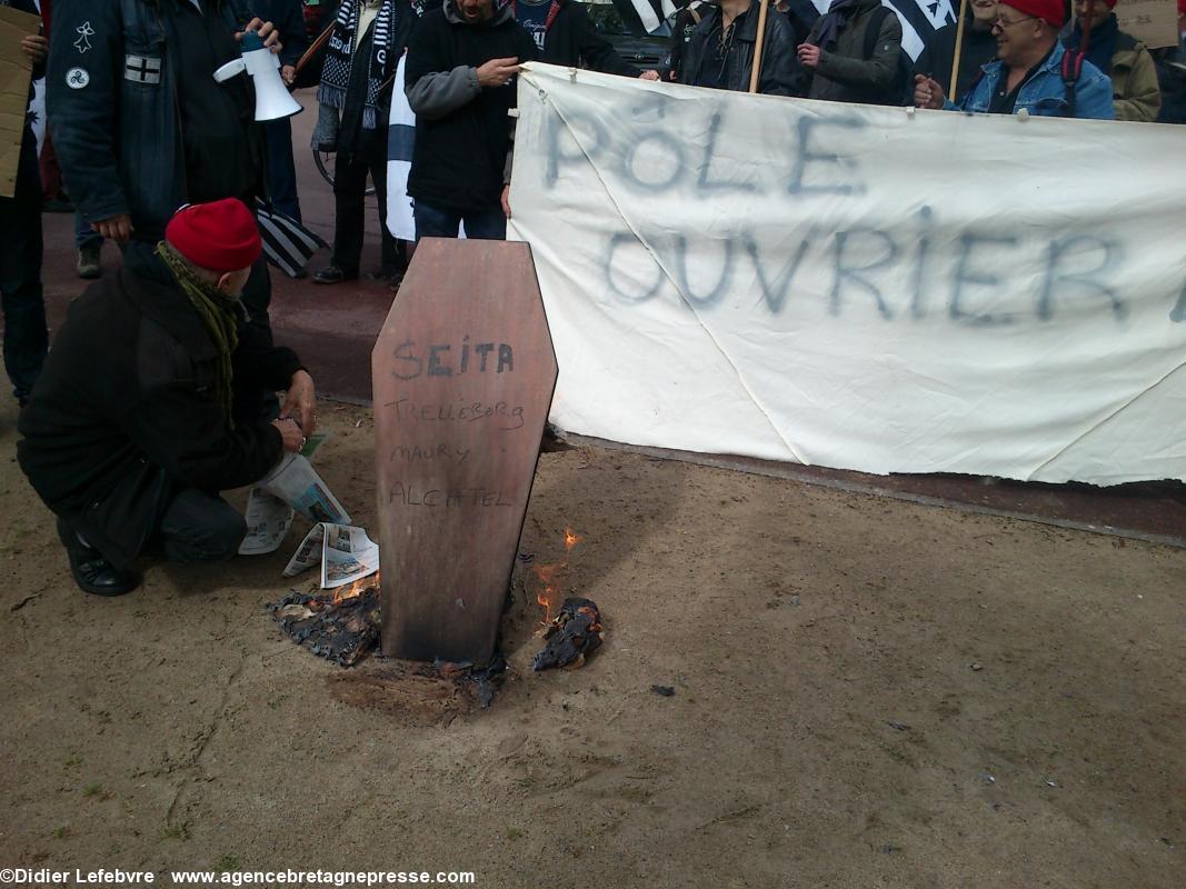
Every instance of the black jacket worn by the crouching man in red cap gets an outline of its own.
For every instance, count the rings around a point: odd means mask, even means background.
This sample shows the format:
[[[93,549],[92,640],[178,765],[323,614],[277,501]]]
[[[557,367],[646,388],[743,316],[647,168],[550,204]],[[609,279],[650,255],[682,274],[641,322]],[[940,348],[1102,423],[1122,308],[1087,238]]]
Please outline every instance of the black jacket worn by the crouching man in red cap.
[[[259,395],[287,389],[300,362],[240,325],[235,429],[215,395],[217,350],[197,311],[147,248],[70,305],[21,411],[20,467],[53,512],[127,567],[168,498],[259,481],[280,460],[280,431]]]

